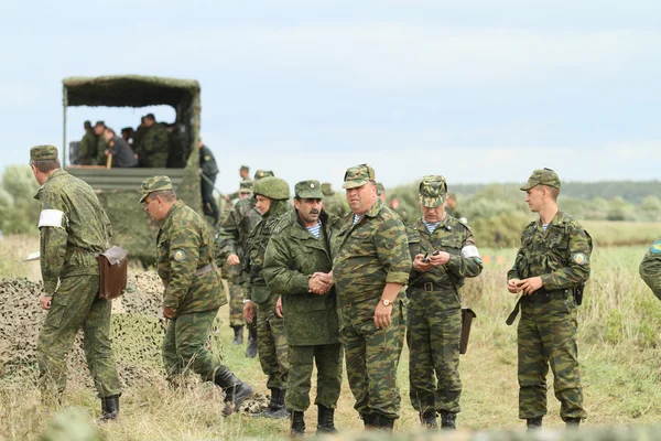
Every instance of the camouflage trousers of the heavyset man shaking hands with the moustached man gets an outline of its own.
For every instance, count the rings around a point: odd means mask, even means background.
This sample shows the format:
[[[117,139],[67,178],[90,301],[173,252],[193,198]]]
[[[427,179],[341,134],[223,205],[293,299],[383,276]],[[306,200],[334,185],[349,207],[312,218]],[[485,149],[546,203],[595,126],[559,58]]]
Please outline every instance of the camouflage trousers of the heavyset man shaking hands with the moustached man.
[[[359,413],[399,418],[397,368],[407,331],[404,304],[395,300],[391,324],[379,330],[373,316],[379,299],[342,306],[340,338],[345,348],[347,379]]]

